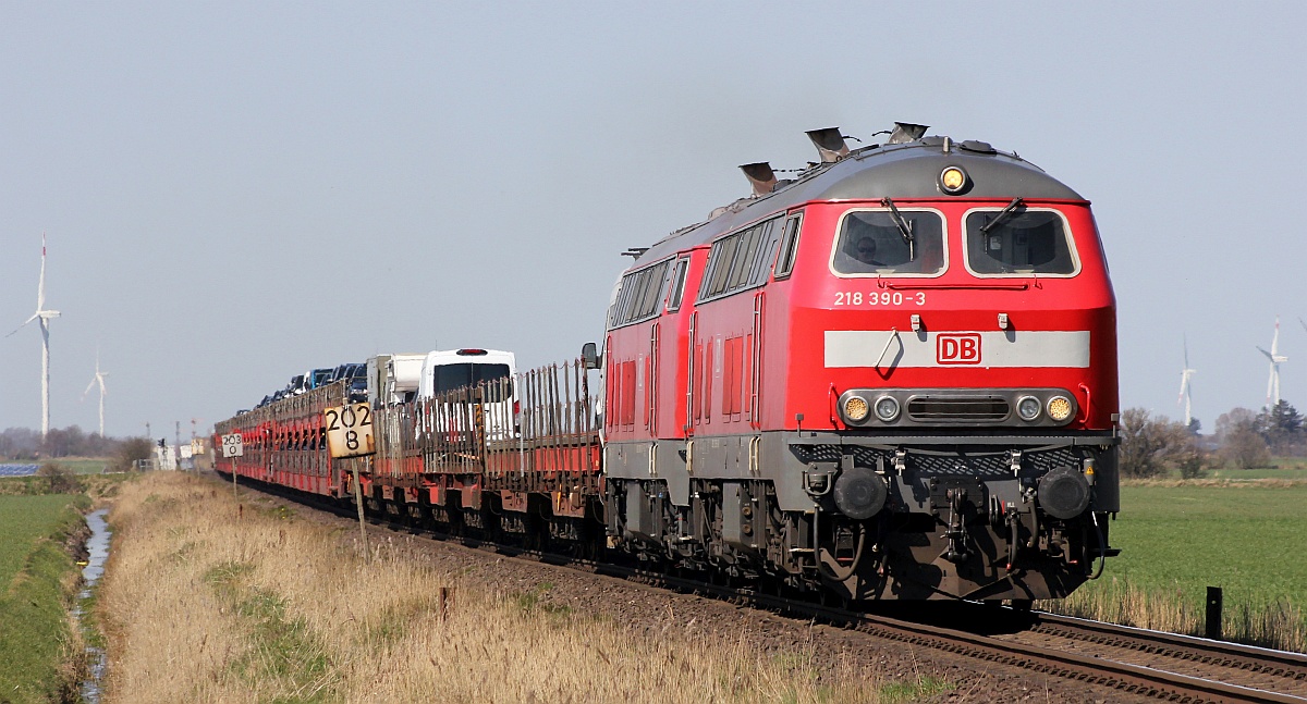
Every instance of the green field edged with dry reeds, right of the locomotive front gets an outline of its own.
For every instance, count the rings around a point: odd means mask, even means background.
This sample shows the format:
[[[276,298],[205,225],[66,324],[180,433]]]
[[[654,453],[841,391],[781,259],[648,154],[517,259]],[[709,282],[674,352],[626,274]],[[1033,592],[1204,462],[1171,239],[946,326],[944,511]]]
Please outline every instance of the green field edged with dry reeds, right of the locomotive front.
[[[1249,478],[1251,479],[1251,478]],[[1227,640],[1307,652],[1307,482],[1138,482],[1121,487],[1121,555],[1057,611],[1201,635],[1208,586]]]

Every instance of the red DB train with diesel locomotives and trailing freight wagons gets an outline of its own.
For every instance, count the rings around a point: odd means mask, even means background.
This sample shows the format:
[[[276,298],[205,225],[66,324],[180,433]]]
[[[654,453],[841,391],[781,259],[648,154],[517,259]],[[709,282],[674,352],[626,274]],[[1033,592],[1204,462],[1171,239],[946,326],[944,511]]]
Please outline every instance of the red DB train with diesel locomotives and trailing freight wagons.
[[[924,132],[856,150],[809,132],[821,161],[792,180],[742,167],[750,197],[629,252],[580,364],[375,404],[366,461],[327,457],[345,392],[315,389],[218,423],[248,448],[218,468],[792,593],[1063,597],[1116,552],[1094,218],[1016,154]],[[601,402],[578,367],[603,371]],[[484,432],[505,398],[515,432]]]

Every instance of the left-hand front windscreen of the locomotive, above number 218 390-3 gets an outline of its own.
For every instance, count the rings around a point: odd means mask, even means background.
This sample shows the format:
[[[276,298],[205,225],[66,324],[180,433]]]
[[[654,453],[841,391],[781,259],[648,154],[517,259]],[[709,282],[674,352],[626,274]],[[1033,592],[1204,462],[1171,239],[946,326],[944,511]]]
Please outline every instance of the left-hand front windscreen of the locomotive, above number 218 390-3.
[[[946,265],[944,218],[933,210],[852,210],[839,226],[830,268],[840,276],[937,276]],[[901,226],[902,225],[902,226]]]

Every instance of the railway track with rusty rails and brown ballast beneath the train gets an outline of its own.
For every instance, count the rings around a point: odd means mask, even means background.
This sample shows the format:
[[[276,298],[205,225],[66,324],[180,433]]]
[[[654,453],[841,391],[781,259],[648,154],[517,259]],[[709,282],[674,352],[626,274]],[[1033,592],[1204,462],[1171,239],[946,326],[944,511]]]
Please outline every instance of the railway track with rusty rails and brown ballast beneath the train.
[[[305,496],[280,487],[261,485],[261,488],[340,516],[353,515],[352,509],[328,502],[306,502]],[[371,519],[382,517],[371,515]],[[412,530],[403,520],[387,522],[399,530]],[[1145,699],[1307,704],[1307,654],[967,602],[932,603],[929,618],[923,618],[920,611],[911,613],[911,605],[904,603],[884,609],[899,615],[880,613],[880,606],[874,607],[877,613],[860,613],[762,593],[748,586],[711,584],[634,566],[495,543],[480,537],[439,532],[434,537],[465,547],[493,550],[507,558],[707,594],[792,618],[817,620],[881,639],[1095,684]],[[959,628],[959,623],[965,626]]]

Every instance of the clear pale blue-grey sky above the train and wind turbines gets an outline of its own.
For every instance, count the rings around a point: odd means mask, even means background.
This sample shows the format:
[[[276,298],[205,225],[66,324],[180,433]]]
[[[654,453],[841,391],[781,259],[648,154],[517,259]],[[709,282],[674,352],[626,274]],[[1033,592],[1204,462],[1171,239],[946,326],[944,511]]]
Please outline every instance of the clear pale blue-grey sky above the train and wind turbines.
[[[201,431],[307,367],[599,340],[620,252],[893,120],[1094,201],[1121,398],[1307,408],[1307,4],[0,1],[0,325],[51,423]],[[35,324],[0,427],[39,427]]]

